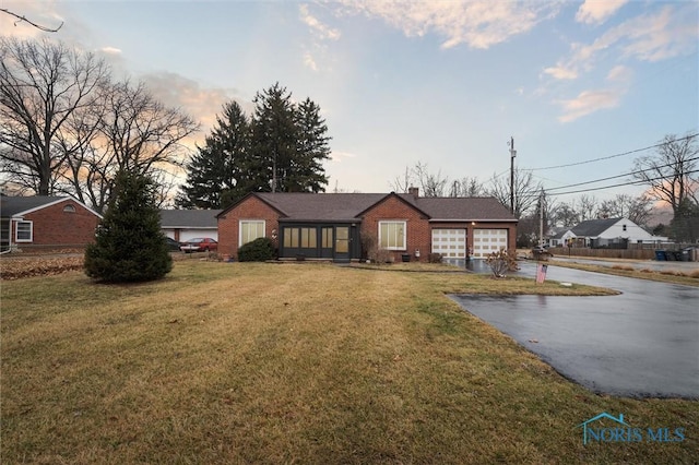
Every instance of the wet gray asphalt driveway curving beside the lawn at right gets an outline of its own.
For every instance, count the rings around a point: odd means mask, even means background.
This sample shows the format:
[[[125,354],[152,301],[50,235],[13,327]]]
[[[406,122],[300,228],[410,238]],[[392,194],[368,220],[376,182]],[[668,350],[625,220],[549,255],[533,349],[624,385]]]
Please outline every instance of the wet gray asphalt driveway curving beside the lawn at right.
[[[451,298],[594,392],[699,398],[699,288],[554,265],[547,278],[623,294]]]

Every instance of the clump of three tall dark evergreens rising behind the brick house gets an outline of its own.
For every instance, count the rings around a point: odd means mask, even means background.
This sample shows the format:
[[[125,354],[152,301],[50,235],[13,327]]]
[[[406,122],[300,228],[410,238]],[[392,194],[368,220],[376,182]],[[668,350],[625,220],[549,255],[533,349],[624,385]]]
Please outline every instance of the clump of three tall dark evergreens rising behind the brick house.
[[[331,140],[320,107],[279,83],[258,92],[248,121],[232,102],[188,164],[177,205],[223,208],[250,192],[323,192]]]

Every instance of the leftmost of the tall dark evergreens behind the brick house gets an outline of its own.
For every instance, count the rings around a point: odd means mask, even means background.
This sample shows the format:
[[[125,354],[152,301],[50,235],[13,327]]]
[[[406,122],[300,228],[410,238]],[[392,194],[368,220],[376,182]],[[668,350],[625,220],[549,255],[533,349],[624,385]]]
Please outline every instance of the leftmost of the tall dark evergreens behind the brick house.
[[[203,147],[187,165],[187,182],[176,203],[185,208],[222,208],[247,194],[250,177],[250,126],[236,102],[223,106]]]

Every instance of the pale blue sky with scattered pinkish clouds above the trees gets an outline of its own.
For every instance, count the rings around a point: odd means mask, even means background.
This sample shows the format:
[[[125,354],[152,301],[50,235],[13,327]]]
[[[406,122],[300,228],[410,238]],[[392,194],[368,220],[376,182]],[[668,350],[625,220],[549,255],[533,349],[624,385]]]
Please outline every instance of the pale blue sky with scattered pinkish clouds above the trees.
[[[280,82],[322,109],[329,189],[387,192],[406,166],[508,176],[699,132],[696,1],[13,1],[2,34],[104,53],[202,123]],[[648,152],[535,170],[545,188],[623,175]],[[627,187],[599,199],[640,194]],[[571,196],[560,196],[570,201]]]

